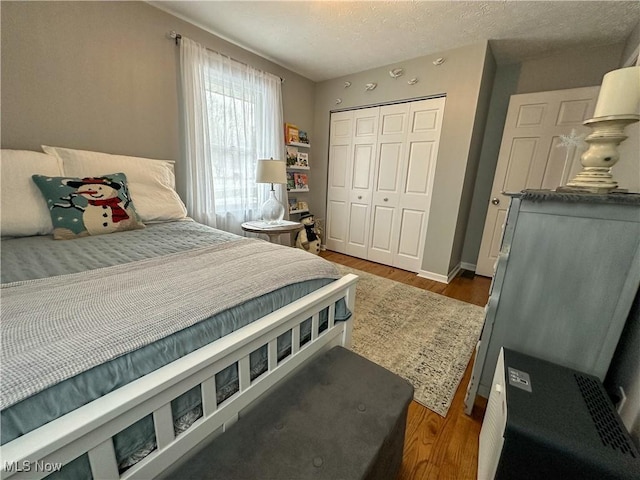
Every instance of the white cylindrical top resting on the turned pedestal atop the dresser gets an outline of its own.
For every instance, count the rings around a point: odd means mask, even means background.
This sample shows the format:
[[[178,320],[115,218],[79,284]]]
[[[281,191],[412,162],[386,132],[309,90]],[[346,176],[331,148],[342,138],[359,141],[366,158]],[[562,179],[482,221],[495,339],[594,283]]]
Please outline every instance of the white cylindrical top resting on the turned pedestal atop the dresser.
[[[620,68],[602,79],[594,118],[640,115],[640,66]]]

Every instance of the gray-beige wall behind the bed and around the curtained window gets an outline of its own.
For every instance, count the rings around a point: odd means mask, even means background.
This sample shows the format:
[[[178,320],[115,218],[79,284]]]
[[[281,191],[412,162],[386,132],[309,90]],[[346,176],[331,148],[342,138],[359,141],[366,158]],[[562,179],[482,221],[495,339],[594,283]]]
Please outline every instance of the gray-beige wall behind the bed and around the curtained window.
[[[41,144],[175,159],[176,30],[285,79],[284,118],[313,136],[315,84],[144,2],[6,2],[2,148]],[[180,185],[180,178],[178,178]]]

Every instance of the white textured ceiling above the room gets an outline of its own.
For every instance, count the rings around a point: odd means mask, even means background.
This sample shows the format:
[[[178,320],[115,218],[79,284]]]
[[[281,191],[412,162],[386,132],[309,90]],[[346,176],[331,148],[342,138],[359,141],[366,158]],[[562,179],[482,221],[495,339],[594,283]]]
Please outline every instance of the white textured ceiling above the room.
[[[322,81],[490,40],[499,64],[624,42],[640,1],[152,1]]]

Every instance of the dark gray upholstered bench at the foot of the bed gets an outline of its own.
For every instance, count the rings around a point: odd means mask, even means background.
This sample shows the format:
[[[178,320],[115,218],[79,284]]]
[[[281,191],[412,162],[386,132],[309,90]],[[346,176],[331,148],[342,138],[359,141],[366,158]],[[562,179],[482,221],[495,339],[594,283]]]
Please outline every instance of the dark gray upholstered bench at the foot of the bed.
[[[166,478],[393,480],[412,398],[407,381],[334,347]]]

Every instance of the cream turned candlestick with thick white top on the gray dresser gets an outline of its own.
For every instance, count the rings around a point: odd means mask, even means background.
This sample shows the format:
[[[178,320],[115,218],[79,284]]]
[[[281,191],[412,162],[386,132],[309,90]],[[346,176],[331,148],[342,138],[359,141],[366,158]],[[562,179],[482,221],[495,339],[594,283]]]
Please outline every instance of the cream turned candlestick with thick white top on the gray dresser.
[[[602,79],[593,118],[584,125],[593,132],[585,141],[589,148],[580,157],[582,171],[567,187],[591,193],[608,193],[618,188],[611,167],[619,160],[618,145],[627,136],[627,125],[640,120],[640,66],[620,68]]]

